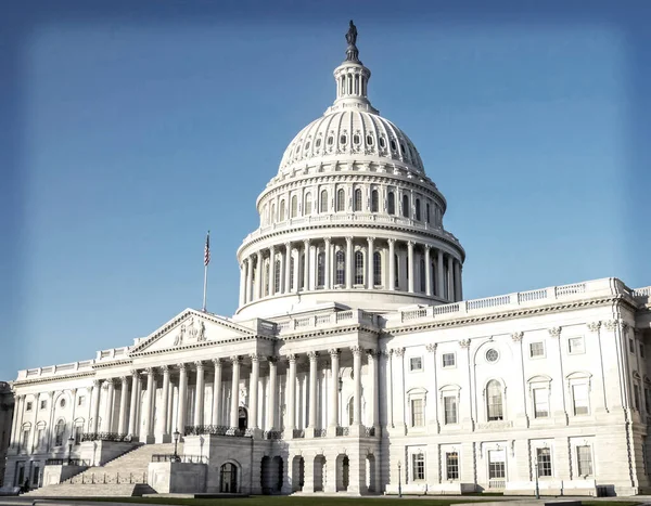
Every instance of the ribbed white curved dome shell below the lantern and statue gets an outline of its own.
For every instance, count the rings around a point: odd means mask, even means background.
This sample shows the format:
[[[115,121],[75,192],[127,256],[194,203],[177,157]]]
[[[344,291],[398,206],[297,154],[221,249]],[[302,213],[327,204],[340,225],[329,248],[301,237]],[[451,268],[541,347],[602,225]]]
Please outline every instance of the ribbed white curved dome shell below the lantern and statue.
[[[396,161],[424,173],[420,155],[409,138],[388,119],[368,111],[328,112],[298,132],[284,152],[279,173],[290,173],[307,160],[352,159]]]

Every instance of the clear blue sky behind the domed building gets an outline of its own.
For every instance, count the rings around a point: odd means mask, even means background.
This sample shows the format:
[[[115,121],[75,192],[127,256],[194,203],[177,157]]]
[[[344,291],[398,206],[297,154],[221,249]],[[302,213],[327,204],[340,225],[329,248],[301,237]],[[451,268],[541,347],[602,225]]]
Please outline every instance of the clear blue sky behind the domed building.
[[[200,308],[208,229],[208,310],[234,312],[255,199],[333,101],[350,17],[467,298],[651,285],[651,2],[103,3],[1,8],[0,379]]]

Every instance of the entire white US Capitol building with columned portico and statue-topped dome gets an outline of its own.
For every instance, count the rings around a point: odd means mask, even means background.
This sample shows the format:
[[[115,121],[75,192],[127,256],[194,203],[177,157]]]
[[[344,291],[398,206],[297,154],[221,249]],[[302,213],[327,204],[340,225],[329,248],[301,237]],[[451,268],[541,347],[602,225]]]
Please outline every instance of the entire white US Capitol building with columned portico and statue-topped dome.
[[[132,345],[18,372],[5,486],[651,490],[651,287],[464,300],[446,199],[371,105],[353,23],[346,39],[334,103],[256,202],[235,314],[187,309]]]

